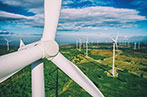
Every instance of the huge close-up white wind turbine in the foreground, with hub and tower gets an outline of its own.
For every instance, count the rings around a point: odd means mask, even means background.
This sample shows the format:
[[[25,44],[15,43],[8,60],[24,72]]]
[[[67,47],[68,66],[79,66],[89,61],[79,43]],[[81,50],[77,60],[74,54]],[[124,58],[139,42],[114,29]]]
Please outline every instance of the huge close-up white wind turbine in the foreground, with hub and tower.
[[[93,97],[104,97],[92,81],[60,52],[55,41],[61,0],[44,0],[45,25],[40,41],[0,56],[0,83],[32,64],[32,97],[45,97],[42,58],[47,58]]]

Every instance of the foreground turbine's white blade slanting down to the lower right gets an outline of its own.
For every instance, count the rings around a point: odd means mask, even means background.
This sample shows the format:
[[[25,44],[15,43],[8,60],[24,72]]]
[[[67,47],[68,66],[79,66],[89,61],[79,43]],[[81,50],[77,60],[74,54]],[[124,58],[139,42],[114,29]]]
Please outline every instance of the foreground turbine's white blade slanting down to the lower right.
[[[61,53],[51,60],[63,72],[65,72],[71,79],[79,84],[93,97],[104,97],[103,94],[97,89],[90,79],[72,62],[67,60]]]

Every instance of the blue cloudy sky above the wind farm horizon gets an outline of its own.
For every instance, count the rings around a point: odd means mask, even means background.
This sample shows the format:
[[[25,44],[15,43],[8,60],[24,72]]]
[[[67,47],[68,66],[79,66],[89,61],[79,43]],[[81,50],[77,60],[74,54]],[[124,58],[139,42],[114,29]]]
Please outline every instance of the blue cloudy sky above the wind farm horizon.
[[[37,41],[44,27],[43,0],[0,0],[0,44]],[[56,40],[75,43],[147,42],[147,0],[62,0]]]

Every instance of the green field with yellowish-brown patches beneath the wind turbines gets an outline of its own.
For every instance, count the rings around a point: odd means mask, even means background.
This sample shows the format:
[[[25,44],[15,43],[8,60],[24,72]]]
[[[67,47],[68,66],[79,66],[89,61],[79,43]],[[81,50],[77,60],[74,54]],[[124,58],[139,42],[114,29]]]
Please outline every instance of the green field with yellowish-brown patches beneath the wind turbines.
[[[142,50],[119,48],[116,52],[118,77],[108,76],[112,69],[111,45],[101,44],[89,48],[89,57],[85,57],[85,49],[79,52],[74,45],[60,48],[61,53],[75,63],[105,97],[147,97],[147,46],[142,47]],[[1,50],[1,54],[4,53],[7,52]],[[91,97],[56,65],[47,59],[43,61],[46,97],[56,97],[56,92],[59,97]],[[31,66],[2,82],[0,97],[31,97]]]

